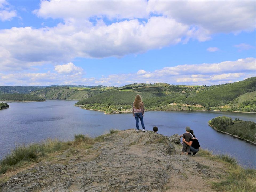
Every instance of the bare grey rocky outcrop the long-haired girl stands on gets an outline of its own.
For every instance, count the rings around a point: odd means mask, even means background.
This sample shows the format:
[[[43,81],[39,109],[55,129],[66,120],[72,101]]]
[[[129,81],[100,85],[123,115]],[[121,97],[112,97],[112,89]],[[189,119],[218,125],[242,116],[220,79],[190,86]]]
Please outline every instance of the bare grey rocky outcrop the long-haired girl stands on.
[[[152,131],[119,131],[87,150],[93,155],[64,151],[56,156],[60,163],[37,163],[11,177],[0,191],[214,191],[207,183],[218,179],[223,165],[178,150],[180,144]]]

